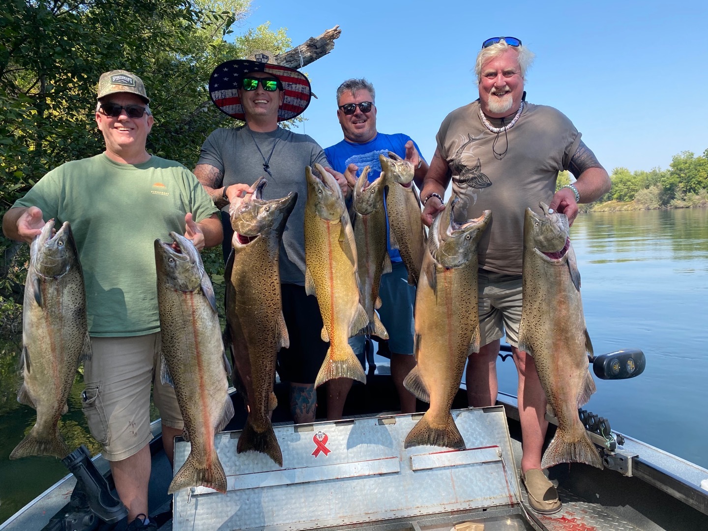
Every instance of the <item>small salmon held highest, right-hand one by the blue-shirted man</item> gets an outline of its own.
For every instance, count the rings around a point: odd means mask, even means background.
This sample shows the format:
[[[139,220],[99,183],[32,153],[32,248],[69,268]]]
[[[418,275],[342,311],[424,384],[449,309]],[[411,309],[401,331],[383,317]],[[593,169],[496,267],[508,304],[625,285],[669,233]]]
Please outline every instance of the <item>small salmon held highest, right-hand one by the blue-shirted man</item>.
[[[388,158],[379,155],[386,174],[386,210],[389,217],[391,247],[398,249],[408,270],[408,283],[418,284],[423,254],[426,251],[426,232],[421,221],[421,200],[413,186],[415,169],[409,161],[394,152]]]

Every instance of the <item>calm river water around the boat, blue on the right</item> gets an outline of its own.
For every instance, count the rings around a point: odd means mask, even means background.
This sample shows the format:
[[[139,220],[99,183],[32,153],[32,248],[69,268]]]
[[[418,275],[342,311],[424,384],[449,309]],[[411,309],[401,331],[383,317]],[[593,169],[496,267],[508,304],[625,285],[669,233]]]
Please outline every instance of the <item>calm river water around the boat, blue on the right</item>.
[[[708,467],[708,209],[581,215],[571,240],[595,353],[641,348],[646,370],[624,381],[595,379],[585,406],[630,435]],[[34,423],[17,404],[18,355],[0,343],[0,523],[67,471],[50,457],[10,461]],[[499,387],[515,393],[513,362],[498,363]],[[81,413],[81,377],[62,419],[70,447],[95,449]]]

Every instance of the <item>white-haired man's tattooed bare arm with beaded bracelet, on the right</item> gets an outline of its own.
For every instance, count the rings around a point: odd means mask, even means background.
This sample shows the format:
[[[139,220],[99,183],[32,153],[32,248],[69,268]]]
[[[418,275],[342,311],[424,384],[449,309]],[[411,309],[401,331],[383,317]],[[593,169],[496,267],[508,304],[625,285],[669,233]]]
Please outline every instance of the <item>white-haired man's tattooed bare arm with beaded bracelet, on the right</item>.
[[[573,183],[580,195],[580,202],[593,202],[610,191],[612,181],[607,171],[600,165],[592,151],[581,142],[571,159],[569,167],[577,181]],[[573,224],[578,217],[578,203],[576,195],[570,188],[561,188],[554,196],[549,208],[568,216],[568,221]]]

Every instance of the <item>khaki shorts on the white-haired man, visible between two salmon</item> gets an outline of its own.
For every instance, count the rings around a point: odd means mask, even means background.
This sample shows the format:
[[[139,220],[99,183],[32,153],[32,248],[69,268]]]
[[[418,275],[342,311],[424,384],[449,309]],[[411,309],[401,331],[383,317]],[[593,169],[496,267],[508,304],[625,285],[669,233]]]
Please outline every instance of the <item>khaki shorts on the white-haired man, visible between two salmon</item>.
[[[518,346],[521,322],[521,275],[479,270],[479,346],[501,339]]]

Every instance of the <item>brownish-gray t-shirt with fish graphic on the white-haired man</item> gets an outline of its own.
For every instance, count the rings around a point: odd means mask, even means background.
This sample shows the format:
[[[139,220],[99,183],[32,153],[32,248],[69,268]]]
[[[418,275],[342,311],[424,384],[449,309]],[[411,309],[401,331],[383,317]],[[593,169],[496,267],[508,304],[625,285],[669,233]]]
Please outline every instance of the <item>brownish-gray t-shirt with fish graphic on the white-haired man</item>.
[[[502,125],[493,118],[489,122]],[[479,242],[481,268],[521,274],[526,207],[540,212],[539,201],[551,202],[558,172],[568,169],[580,138],[559,110],[533,103],[524,104],[506,135],[484,126],[479,101],[453,110],[442,121],[435,139],[452,173],[452,193],[469,200],[468,219],[486,209],[492,212]]]

